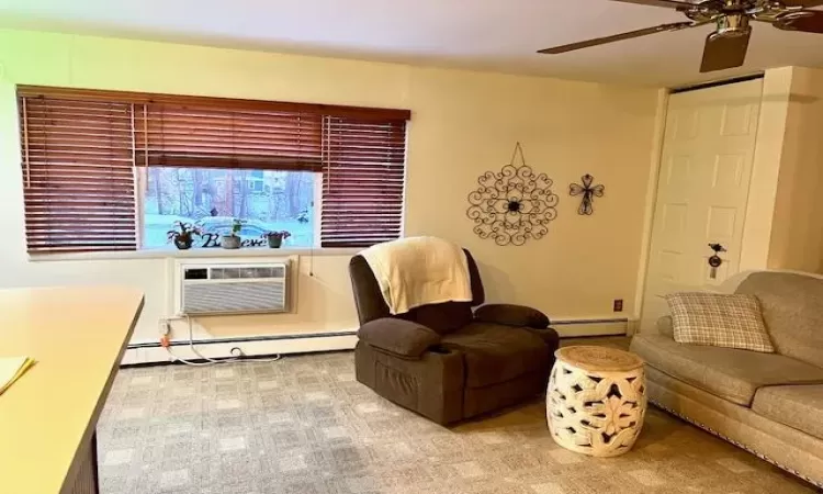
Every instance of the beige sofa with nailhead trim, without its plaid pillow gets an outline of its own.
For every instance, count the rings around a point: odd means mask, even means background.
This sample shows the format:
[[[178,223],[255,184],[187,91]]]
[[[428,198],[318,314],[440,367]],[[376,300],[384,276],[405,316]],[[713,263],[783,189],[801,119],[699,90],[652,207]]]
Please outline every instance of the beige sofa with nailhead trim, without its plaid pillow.
[[[657,406],[823,487],[823,279],[764,271],[757,295],[776,353],[678,344],[672,318],[632,339]]]

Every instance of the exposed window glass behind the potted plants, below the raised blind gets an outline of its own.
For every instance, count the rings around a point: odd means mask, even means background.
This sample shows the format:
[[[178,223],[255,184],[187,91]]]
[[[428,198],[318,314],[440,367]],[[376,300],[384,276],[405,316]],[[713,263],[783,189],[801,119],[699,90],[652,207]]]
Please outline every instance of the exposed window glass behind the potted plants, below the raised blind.
[[[194,224],[204,234],[214,234],[216,240],[232,233],[234,218],[243,221],[239,235],[244,247],[268,247],[262,235],[271,231],[291,234],[283,247],[314,243],[318,173],[150,167],[143,177],[144,248],[174,248],[167,232],[177,221]],[[207,240],[207,235],[196,237],[193,248],[204,247]]]

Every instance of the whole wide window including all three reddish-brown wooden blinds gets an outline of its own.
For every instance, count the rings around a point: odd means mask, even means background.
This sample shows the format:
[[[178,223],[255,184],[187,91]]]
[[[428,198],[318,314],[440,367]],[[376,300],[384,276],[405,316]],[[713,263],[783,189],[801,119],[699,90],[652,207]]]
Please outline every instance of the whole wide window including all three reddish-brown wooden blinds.
[[[408,111],[20,87],[30,252],[172,248],[192,223],[362,247],[402,234]],[[203,236],[195,247],[214,246]]]

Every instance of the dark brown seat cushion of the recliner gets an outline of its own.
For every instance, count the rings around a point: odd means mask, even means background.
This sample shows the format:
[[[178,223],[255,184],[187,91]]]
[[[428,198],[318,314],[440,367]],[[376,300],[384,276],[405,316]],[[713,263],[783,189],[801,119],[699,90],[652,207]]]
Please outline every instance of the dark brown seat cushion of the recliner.
[[[539,335],[526,328],[472,323],[443,336],[441,345],[463,353],[466,386],[483,388],[530,372],[545,372],[551,350]]]

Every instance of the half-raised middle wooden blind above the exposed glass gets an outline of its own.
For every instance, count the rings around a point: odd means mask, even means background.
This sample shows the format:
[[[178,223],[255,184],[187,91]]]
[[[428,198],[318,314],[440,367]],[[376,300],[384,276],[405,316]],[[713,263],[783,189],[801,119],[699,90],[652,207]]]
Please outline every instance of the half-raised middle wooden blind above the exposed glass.
[[[323,116],[149,103],[137,116],[138,166],[320,171]]]

